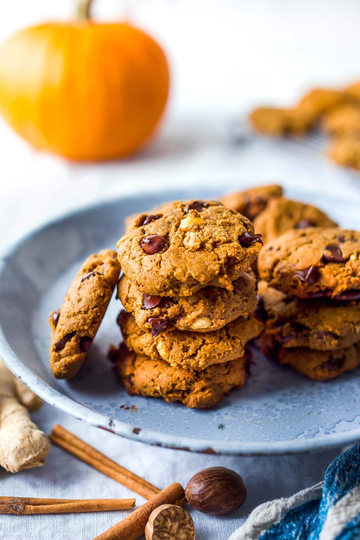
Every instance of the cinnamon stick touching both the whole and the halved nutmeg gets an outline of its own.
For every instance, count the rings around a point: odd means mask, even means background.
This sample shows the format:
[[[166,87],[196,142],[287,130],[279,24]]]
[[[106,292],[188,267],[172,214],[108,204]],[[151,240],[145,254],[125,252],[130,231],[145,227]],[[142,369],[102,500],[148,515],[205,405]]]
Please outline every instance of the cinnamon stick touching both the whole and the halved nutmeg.
[[[145,525],[155,508],[161,504],[178,504],[184,495],[184,488],[180,484],[171,484],[93,540],[135,540],[144,535]]]

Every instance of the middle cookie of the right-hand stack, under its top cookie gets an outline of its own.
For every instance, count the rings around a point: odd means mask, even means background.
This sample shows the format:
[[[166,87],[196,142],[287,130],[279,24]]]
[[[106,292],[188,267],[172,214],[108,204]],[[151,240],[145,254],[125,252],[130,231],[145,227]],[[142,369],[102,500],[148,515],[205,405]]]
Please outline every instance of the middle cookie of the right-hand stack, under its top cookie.
[[[258,284],[266,325],[264,333],[284,348],[334,350],[360,341],[360,301],[289,298],[265,281]]]

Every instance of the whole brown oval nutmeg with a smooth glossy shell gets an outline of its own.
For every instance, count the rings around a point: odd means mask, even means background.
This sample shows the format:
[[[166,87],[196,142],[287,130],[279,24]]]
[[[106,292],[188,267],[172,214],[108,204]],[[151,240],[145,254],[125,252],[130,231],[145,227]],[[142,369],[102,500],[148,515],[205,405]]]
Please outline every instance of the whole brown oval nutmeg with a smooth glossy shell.
[[[189,480],[185,495],[195,510],[220,516],[239,508],[247,494],[241,476],[235,471],[210,467]]]

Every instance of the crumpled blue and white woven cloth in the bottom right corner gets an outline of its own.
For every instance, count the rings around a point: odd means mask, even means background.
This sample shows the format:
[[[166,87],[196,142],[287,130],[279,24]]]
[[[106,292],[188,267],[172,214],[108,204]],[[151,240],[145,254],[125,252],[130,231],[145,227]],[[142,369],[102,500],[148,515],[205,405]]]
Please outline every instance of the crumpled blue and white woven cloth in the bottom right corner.
[[[255,508],[229,540],[360,539],[360,444],[332,461],[325,480]]]

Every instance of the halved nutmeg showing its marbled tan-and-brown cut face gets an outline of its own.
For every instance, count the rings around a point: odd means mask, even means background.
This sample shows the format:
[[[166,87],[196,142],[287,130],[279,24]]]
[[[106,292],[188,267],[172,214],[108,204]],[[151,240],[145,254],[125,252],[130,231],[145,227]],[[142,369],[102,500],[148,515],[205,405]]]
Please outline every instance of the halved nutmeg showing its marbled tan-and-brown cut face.
[[[150,514],[145,527],[146,540],[195,540],[189,512],[175,504],[161,504]]]

